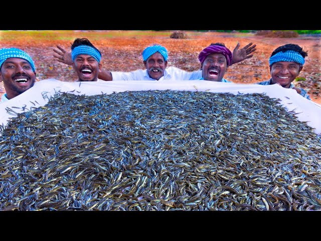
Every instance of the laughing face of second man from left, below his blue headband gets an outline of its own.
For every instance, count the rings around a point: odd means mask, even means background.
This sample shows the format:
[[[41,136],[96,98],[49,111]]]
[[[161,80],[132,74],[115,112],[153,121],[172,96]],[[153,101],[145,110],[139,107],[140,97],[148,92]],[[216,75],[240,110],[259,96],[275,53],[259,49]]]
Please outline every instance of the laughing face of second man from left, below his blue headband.
[[[74,70],[78,75],[78,81],[97,81],[101,71],[101,64],[87,54],[80,54],[73,62]]]

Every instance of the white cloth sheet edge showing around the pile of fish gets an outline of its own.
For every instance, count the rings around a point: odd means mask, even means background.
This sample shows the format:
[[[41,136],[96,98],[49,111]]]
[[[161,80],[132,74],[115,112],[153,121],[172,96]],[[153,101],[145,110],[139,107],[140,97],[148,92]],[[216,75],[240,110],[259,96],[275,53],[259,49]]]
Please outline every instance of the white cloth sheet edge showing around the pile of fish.
[[[45,79],[19,96],[0,103],[0,125],[6,125],[13,117],[7,111],[11,108],[15,112],[27,111],[31,107],[43,106],[48,102],[47,97],[58,91],[71,92],[74,94],[110,94],[126,90],[186,90],[186,91],[210,91],[239,93],[265,93],[271,98],[279,98],[280,104],[287,111],[294,111],[298,121],[314,128],[316,134],[321,134],[321,105],[310,101],[297,94],[294,89],[285,89],[280,85],[258,84],[235,84],[222,83],[207,80],[184,80],[184,81],[98,81],[98,82],[64,82],[56,79]],[[19,108],[13,108],[19,107]],[[25,110],[22,109],[25,107]],[[20,109],[21,108],[21,109]]]

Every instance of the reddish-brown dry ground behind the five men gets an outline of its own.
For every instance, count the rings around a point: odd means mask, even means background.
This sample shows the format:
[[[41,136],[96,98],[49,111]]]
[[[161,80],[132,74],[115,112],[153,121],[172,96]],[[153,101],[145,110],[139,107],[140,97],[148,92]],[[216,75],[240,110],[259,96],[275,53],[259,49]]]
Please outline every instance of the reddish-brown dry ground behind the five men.
[[[312,101],[321,104],[321,38],[299,36],[297,38],[267,38],[254,33],[218,33],[187,31],[187,39],[170,38],[174,31],[0,31],[0,48],[17,47],[28,52],[37,67],[38,80],[56,78],[75,81],[76,75],[70,66],[57,62],[53,48],[58,44],[70,49],[75,38],[88,38],[101,52],[103,67],[111,71],[143,69],[141,52],[151,44],[161,44],[169,51],[168,66],[188,71],[199,69],[199,52],[211,43],[224,43],[231,51],[237,42],[244,47],[256,44],[254,56],[232,65],[225,77],[235,83],[255,83],[269,79],[268,59],[272,51],[287,43],[298,44],[308,51],[299,77],[294,81],[306,89]],[[0,96],[4,93],[0,82]]]

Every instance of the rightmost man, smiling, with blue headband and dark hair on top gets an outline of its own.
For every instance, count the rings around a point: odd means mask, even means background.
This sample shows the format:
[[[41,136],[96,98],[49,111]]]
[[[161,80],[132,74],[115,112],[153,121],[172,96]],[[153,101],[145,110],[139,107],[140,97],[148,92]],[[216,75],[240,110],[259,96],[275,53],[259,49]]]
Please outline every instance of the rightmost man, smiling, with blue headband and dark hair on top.
[[[257,84],[280,84],[283,88],[295,89],[297,93],[310,100],[304,89],[295,87],[292,83],[302,70],[306,56],[307,51],[303,51],[297,44],[285,44],[276,48],[269,59],[271,78]]]

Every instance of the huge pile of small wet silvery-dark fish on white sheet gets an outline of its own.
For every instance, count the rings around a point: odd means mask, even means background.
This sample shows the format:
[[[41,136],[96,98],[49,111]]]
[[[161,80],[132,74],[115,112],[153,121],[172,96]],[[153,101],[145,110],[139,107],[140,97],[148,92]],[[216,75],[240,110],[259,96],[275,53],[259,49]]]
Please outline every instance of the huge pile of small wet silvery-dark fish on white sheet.
[[[0,136],[0,210],[321,210],[321,141],[264,94],[57,93]]]

